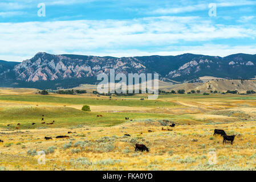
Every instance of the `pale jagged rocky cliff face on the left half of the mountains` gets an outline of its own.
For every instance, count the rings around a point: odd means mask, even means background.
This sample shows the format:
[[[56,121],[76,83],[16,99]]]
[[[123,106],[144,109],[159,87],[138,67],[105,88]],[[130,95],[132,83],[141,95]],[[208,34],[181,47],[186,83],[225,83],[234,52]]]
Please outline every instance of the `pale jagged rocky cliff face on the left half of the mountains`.
[[[96,57],[76,55],[50,55],[39,52],[32,59],[14,67],[17,80],[49,81],[64,78],[94,77],[99,73],[141,73],[145,66],[134,57]]]

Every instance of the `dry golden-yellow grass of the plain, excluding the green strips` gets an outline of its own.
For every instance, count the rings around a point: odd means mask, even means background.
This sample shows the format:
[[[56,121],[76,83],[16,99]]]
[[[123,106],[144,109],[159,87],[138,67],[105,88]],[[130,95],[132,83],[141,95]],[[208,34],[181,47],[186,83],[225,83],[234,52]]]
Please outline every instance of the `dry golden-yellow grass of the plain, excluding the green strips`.
[[[102,113],[164,113],[169,122],[161,118],[132,118],[133,121],[111,127],[0,129],[0,139],[3,140],[0,143],[0,169],[255,170],[255,101],[179,97],[159,99],[176,103],[177,107],[172,108],[91,106],[92,111]],[[28,107],[35,103],[1,101],[0,109],[17,105]],[[39,105],[48,108],[63,104],[42,102]],[[68,106],[80,109],[82,105]],[[175,127],[169,127],[172,122],[176,123]],[[221,136],[213,137],[214,129],[224,129],[228,135],[236,135],[233,145],[229,142],[222,144]],[[68,134],[68,131],[72,133]],[[58,135],[70,138],[56,139]],[[44,137],[52,137],[52,140],[44,140]],[[149,152],[134,151],[135,143],[145,144]],[[46,164],[37,161],[39,156],[36,154],[42,150],[46,152]],[[212,164],[209,159],[215,154],[216,163]]]

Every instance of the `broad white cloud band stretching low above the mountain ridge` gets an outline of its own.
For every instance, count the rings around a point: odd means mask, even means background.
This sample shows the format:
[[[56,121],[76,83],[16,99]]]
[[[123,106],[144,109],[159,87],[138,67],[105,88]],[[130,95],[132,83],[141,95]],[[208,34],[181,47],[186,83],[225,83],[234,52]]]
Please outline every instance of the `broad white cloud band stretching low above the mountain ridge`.
[[[225,49],[214,46],[209,50],[203,47],[198,49],[181,47],[181,49],[166,51],[165,48],[177,43],[189,45],[194,42],[207,43],[218,39],[254,39],[255,36],[255,26],[246,28],[213,24],[197,16],[0,23],[0,59],[29,59],[39,51],[101,56],[136,56],[142,53],[172,55],[192,51],[226,55]],[[157,47],[158,51],[149,51],[153,47]],[[227,50],[237,49],[228,47]],[[241,49],[241,52],[249,50],[253,48]],[[231,51],[227,52],[231,53]]]

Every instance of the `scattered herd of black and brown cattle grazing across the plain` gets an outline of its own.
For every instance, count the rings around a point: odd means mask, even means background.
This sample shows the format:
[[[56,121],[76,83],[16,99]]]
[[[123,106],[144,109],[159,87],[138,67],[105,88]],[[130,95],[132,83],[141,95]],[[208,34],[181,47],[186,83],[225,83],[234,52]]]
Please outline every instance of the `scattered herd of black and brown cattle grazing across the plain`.
[[[42,116],[44,117],[44,115],[42,115]],[[97,115],[97,117],[103,117],[103,116],[102,116],[102,115]],[[128,120],[128,119],[129,119],[128,117],[125,117],[125,120]],[[44,118],[42,118],[41,121],[44,121]],[[132,121],[132,119],[131,119],[130,121]],[[55,122],[55,121],[52,121],[51,123],[41,122],[41,124],[45,124],[45,123],[46,123],[47,125],[53,125],[54,122]],[[32,123],[32,125],[35,125],[35,124],[36,124],[36,123]],[[7,126],[10,126],[10,124],[7,125]],[[21,123],[18,123],[17,126],[21,126]],[[169,126],[170,126],[170,127],[174,127],[175,124],[172,123],[172,125],[169,125]],[[19,127],[15,127],[15,129],[19,130]],[[170,130],[170,129],[164,129],[164,127],[162,127],[161,130],[162,130],[162,131],[172,131],[172,130]],[[152,130],[148,130],[148,132],[151,133],[151,132],[153,132],[153,131],[152,131]],[[71,131],[68,131],[68,134],[71,134],[71,133],[72,133]],[[76,132],[74,132],[74,133],[76,133]],[[142,133],[141,133],[141,134],[142,134]],[[226,133],[225,133],[224,130],[214,129],[214,134],[213,134],[213,136],[216,135],[216,134],[221,135],[221,136],[223,137],[223,143],[222,143],[222,144],[224,144],[224,142],[226,142],[226,141],[230,141],[231,144],[233,145],[235,135],[226,135]],[[124,134],[124,136],[131,137],[131,135],[129,135],[129,134]],[[57,137],[55,137],[55,138],[58,139],[58,138],[70,138],[70,137],[68,137],[67,135],[59,135],[59,136],[57,136]],[[52,137],[44,137],[44,139],[45,139],[45,140],[52,140]],[[0,143],[3,143],[3,140],[0,139]],[[148,149],[144,144],[138,144],[138,143],[136,143],[136,144],[135,144],[135,151],[137,151],[137,150],[140,150],[140,151],[142,151],[142,152],[143,152],[143,151],[147,151],[147,152],[149,151],[149,149]]]

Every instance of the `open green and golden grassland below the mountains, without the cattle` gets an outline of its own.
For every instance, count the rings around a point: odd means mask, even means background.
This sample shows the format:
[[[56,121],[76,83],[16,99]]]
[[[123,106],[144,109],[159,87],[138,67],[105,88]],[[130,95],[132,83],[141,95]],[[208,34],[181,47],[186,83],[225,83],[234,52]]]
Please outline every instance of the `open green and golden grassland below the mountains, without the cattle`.
[[[0,95],[0,170],[256,169],[254,95],[169,94],[141,101],[146,96],[109,100],[31,92]],[[90,112],[81,110],[85,104]],[[41,124],[42,114],[54,125]],[[169,127],[173,122],[176,126]],[[235,134],[233,145],[213,137],[214,129]],[[70,138],[56,139],[58,135]],[[135,152],[135,143],[145,144],[149,152]],[[38,164],[38,151],[46,153],[46,164]],[[215,164],[209,162],[212,154]]]

